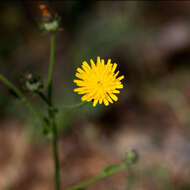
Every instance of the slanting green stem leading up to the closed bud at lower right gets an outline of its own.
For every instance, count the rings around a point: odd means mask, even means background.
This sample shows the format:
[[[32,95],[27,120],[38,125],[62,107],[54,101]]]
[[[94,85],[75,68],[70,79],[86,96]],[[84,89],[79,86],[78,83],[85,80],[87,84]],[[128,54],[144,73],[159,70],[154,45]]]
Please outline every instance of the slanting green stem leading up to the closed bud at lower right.
[[[107,178],[107,177],[109,177],[109,176],[111,176],[111,175],[113,175],[113,174],[115,174],[117,172],[120,172],[120,171],[126,169],[126,167],[127,167],[127,165],[125,163],[123,163],[123,164],[117,166],[116,169],[114,169],[114,170],[112,170],[110,172],[104,172],[103,171],[102,173],[100,173],[100,175],[98,175],[96,177],[93,177],[93,178],[90,178],[90,179],[80,183],[79,185],[75,185],[75,186],[69,188],[68,190],[82,190],[82,189],[85,189],[87,186],[89,186],[91,184],[94,184],[94,183],[96,183],[96,182],[98,182],[98,181],[100,181],[102,179],[105,179],[105,178]]]

